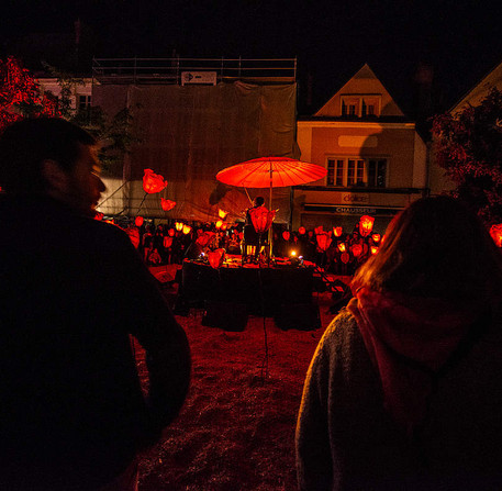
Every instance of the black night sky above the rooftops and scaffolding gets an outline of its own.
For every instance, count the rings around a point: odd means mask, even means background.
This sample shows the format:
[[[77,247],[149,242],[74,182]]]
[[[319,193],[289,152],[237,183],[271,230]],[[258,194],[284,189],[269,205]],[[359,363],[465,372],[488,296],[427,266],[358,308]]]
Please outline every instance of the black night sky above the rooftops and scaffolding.
[[[71,38],[80,18],[85,59],[169,57],[172,49],[181,57],[298,57],[303,94],[306,74],[313,77],[312,110],[368,63],[410,111],[420,63],[434,69],[435,107],[448,109],[502,62],[501,14],[502,2],[480,0],[15,0],[2,9],[0,41],[1,56],[29,58],[45,44],[25,36]]]

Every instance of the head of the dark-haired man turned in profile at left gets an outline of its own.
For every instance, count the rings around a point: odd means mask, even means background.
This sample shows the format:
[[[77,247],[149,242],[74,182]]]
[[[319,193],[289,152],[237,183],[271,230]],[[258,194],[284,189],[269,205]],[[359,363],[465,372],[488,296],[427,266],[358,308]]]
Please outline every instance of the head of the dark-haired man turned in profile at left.
[[[104,185],[94,138],[60,119],[29,119],[0,135],[0,186],[9,194],[45,194],[92,214]]]

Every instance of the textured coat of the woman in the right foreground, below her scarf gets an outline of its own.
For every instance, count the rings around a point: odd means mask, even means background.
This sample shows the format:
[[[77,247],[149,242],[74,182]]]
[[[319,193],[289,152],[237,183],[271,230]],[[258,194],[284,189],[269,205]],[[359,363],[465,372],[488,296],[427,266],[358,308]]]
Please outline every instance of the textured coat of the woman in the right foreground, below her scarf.
[[[326,330],[309,368],[297,426],[299,489],[502,489],[500,316],[438,380],[410,439],[383,408],[355,319]]]

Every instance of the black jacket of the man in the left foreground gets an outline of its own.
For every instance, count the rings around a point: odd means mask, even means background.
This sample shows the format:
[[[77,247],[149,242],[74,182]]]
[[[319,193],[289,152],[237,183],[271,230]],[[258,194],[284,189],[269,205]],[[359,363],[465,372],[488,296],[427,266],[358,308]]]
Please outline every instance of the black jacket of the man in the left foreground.
[[[187,337],[119,227],[4,197],[0,227],[0,489],[100,486],[179,412]]]

